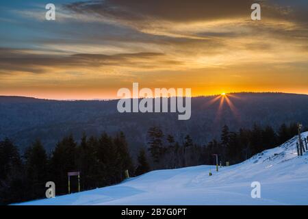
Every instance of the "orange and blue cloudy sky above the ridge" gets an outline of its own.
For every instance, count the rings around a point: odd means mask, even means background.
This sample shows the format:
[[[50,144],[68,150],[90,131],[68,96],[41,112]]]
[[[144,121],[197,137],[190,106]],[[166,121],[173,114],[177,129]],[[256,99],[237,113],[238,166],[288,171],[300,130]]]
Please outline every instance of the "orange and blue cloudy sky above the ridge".
[[[45,20],[54,3],[56,20]],[[261,21],[251,20],[260,3]],[[0,95],[116,98],[119,88],[308,94],[308,2],[0,3]]]

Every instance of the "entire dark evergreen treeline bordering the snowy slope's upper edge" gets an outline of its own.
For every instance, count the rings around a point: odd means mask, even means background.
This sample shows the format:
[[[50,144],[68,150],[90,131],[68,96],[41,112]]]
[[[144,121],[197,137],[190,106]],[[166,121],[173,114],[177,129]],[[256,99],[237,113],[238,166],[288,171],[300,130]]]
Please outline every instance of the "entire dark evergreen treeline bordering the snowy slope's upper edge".
[[[67,136],[50,155],[40,140],[34,141],[21,155],[13,142],[5,138],[0,142],[0,204],[44,198],[47,181],[55,182],[56,195],[67,194],[67,172],[71,171],[80,171],[81,190],[90,190],[123,181],[125,170],[129,170],[130,176],[137,176],[149,170],[215,164],[213,154],[218,154],[222,164],[237,164],[296,134],[296,124],[283,124],[277,132],[270,126],[259,125],[230,131],[224,125],[219,140],[198,145],[190,135],[176,140],[159,127],[151,127],[136,165],[122,132],[115,136],[102,133],[99,137],[84,134],[79,144],[73,136]],[[77,192],[77,179],[72,178],[71,191]]]

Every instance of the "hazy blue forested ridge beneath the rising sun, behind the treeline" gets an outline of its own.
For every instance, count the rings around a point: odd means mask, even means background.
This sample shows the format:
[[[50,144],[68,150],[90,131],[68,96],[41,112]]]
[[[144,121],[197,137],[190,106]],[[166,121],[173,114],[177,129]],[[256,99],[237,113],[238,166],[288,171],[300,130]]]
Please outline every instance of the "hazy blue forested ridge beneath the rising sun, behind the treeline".
[[[116,109],[118,101],[52,101],[21,96],[0,96],[0,138],[9,137],[21,149],[36,138],[47,150],[70,133],[76,140],[83,132],[97,136],[103,131],[124,131],[132,152],[147,142],[146,131],[159,125],[165,134],[183,140],[190,134],[199,144],[220,138],[226,124],[231,131],[240,127],[272,125],[300,121],[308,126],[308,95],[284,93],[237,93],[229,95],[218,110],[218,96],[192,98],[190,120],[177,120],[177,113],[125,113]],[[233,109],[233,110],[231,110]]]

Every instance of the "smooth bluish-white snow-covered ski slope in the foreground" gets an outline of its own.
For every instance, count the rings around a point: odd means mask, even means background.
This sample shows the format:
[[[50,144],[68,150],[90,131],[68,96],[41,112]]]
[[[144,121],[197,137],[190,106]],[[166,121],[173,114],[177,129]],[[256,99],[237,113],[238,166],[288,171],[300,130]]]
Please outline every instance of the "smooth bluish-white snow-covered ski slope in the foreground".
[[[297,157],[296,140],[219,172],[214,166],[156,170],[118,185],[21,204],[308,205],[308,153]],[[261,198],[251,198],[253,181],[261,183]]]

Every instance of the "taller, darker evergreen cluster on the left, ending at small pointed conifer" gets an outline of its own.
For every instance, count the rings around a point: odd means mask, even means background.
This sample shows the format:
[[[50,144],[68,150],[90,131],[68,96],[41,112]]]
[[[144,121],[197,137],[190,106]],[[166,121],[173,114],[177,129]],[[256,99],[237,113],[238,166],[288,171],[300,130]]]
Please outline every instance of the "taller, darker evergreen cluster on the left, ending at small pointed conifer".
[[[125,170],[131,175],[149,171],[144,156],[133,166],[127,141],[122,132],[111,137],[103,133],[99,138],[84,134],[80,144],[73,136],[63,138],[47,155],[44,146],[36,140],[23,155],[6,138],[0,142],[0,204],[44,198],[45,183],[55,183],[56,195],[68,193],[67,172],[81,172],[81,190],[100,188],[119,183]],[[71,190],[77,192],[77,179],[71,179]]]

